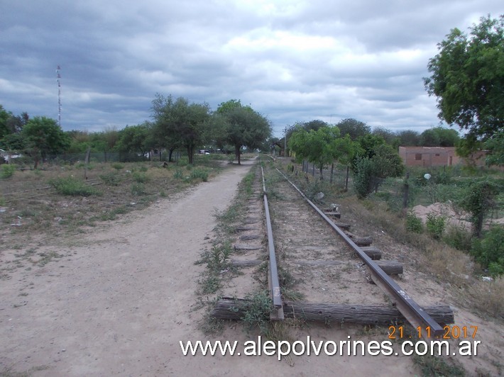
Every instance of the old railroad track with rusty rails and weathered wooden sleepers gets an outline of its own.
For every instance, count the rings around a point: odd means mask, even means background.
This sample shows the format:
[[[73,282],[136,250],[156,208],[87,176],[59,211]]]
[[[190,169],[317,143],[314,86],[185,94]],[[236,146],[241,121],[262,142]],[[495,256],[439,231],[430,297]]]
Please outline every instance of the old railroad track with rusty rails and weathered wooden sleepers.
[[[265,178],[265,170],[267,171]],[[319,208],[278,169],[261,167],[264,221],[258,221],[258,200],[251,201],[255,246],[231,260],[234,266],[251,268],[268,261],[268,289],[273,300],[271,320],[300,317],[324,322],[355,322],[386,325],[409,322],[412,327],[427,328],[434,336],[443,333],[442,325],[454,322],[447,305],[422,308],[415,303],[393,275],[402,273],[395,261],[376,261],[380,250],[371,247],[371,238],[354,235],[350,225],[340,219],[338,206]],[[257,196],[256,196],[257,197]],[[269,199],[269,200],[268,200]],[[272,200],[273,199],[273,200]],[[258,227],[258,224],[261,227]],[[250,227],[238,227],[250,232]],[[263,245],[258,233],[263,233]],[[250,237],[250,238],[247,238]],[[247,250],[247,246],[235,245]],[[374,284],[370,284],[372,281]],[[222,298],[212,315],[239,319],[247,300]]]

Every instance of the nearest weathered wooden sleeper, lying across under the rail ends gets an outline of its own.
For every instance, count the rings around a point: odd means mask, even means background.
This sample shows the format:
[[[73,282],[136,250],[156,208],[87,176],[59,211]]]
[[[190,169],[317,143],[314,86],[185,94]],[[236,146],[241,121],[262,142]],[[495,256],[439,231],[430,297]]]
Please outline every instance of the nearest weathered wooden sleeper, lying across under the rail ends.
[[[241,298],[221,298],[212,310],[212,317],[241,320],[246,314],[248,305],[250,302]],[[454,323],[454,313],[449,305],[424,306],[423,309],[439,324]],[[345,305],[285,301],[283,314],[285,318],[336,324],[349,322],[386,326],[392,322],[406,322],[405,317],[392,305]]]

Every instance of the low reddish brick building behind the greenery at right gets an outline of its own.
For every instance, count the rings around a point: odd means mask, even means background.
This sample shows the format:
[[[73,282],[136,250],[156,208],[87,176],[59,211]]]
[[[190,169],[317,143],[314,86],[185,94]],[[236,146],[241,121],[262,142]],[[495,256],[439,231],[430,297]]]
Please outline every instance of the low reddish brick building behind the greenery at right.
[[[484,167],[486,151],[464,159],[456,155],[455,147],[399,147],[399,155],[407,167],[451,167],[456,164]]]

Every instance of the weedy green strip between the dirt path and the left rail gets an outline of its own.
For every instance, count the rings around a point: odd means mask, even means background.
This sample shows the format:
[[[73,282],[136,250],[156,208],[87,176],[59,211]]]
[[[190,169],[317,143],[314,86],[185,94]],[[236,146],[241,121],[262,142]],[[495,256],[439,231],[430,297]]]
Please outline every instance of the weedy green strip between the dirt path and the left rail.
[[[260,334],[265,339],[280,340],[288,339],[284,332],[284,325],[270,322],[270,313],[273,310],[273,301],[268,292],[268,262],[267,254],[260,252],[256,267],[249,269],[238,268],[232,261],[243,257],[243,252],[232,247],[236,240],[244,240],[248,229],[258,229],[258,223],[261,223],[262,230],[262,184],[257,174],[261,174],[258,165],[253,167],[239,185],[239,192],[236,194],[231,206],[223,213],[216,215],[217,226],[214,228],[215,239],[212,246],[205,249],[197,264],[202,264],[205,269],[199,278],[199,300],[207,306],[207,314],[201,323],[202,330],[207,334],[221,332],[226,327],[226,320],[217,320],[212,317],[211,310],[214,309],[217,300],[221,298],[226,291],[233,290],[236,285],[243,286],[243,279],[252,280],[258,283],[255,288],[253,284],[248,283],[247,293],[239,296],[242,298],[240,303],[236,302],[236,310],[240,310],[240,323],[243,325],[243,331],[246,334]],[[261,218],[261,220],[259,220]],[[247,219],[253,220],[253,225],[248,225]],[[257,220],[256,220],[257,219]],[[258,232],[254,230],[253,232]],[[252,235],[253,239],[257,237]],[[261,236],[263,237],[263,236]],[[251,257],[248,253],[247,256]],[[262,260],[262,261],[261,261]],[[248,271],[243,273],[242,271]],[[246,275],[248,274],[248,275]],[[287,283],[290,277],[285,271],[282,271],[283,283]],[[239,279],[239,283],[235,280]],[[229,293],[226,295],[229,296]],[[295,298],[292,293],[292,299]],[[238,300],[236,298],[235,300]],[[240,309],[238,309],[238,307]],[[234,326],[236,325],[236,322]],[[289,358],[286,358],[287,361]]]

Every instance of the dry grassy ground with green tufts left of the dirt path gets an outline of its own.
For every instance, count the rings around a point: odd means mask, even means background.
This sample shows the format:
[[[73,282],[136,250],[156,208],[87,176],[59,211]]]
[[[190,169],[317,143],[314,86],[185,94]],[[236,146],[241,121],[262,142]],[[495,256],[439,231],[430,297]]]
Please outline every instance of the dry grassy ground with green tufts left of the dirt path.
[[[218,164],[209,161],[196,169],[215,176]],[[160,162],[92,163],[87,169],[77,163],[16,171],[1,182],[0,232],[5,237],[0,247],[25,238],[86,232],[202,181],[175,179],[176,169],[190,174],[186,167],[162,167]]]

